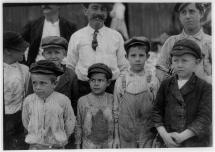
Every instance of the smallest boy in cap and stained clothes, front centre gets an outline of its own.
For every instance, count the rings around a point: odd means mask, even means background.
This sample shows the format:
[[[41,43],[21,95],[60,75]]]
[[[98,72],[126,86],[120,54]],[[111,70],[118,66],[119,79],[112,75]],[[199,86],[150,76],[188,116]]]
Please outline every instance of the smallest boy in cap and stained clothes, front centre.
[[[88,69],[91,93],[78,101],[76,145],[77,148],[112,148],[113,143],[113,95],[106,93],[112,72],[103,63]]]

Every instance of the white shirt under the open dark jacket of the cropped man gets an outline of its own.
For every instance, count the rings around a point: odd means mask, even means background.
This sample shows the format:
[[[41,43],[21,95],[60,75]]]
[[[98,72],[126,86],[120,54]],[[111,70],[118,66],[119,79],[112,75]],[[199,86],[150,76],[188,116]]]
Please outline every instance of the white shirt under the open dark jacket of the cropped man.
[[[42,38],[47,36],[60,36],[59,20],[54,23],[48,21],[47,19],[44,20]],[[42,41],[42,38],[41,38],[41,41]],[[42,52],[43,52],[43,49],[40,46],[36,61],[44,59]]]

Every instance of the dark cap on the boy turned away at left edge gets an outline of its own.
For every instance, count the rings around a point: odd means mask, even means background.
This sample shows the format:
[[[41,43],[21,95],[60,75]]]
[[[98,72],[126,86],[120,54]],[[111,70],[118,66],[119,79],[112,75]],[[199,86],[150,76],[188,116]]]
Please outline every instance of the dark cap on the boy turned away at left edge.
[[[29,44],[23,39],[21,34],[13,31],[3,33],[3,48],[24,52]]]

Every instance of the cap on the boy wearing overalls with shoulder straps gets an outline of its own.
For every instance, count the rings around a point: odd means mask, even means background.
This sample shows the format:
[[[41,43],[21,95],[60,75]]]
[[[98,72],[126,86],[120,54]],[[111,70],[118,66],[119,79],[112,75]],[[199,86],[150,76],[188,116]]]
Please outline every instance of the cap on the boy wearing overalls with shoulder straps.
[[[137,36],[137,37],[132,37],[131,39],[127,40],[124,44],[126,52],[128,52],[128,49],[133,46],[133,45],[144,45],[147,46],[148,49],[146,50],[148,53],[150,50],[150,41],[148,38],[144,36]]]

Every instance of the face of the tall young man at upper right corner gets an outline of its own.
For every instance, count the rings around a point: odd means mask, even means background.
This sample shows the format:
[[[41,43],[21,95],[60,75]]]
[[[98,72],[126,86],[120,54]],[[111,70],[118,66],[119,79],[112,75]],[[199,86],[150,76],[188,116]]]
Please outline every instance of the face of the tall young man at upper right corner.
[[[179,19],[185,29],[198,28],[202,14],[196,8],[195,3],[188,4],[179,13]]]

